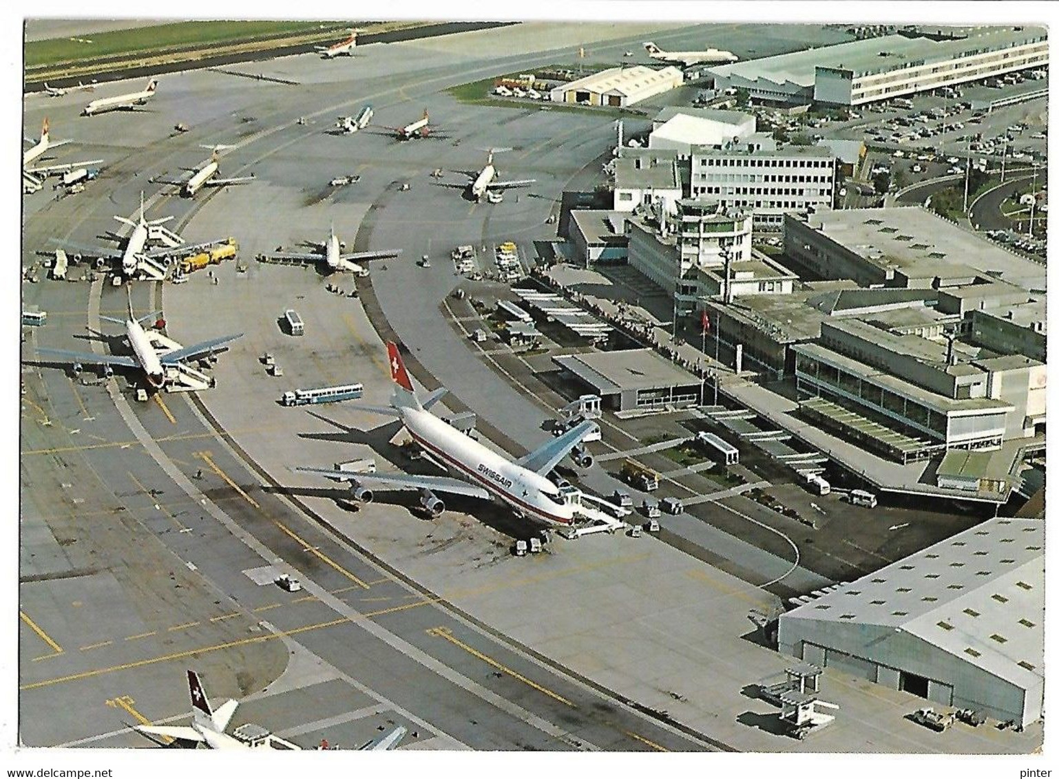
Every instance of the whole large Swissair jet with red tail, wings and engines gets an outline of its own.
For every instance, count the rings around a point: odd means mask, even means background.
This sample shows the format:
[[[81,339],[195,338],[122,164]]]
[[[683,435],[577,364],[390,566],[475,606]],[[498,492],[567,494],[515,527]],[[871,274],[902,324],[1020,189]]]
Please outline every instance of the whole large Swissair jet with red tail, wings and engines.
[[[548,525],[572,525],[578,519],[602,519],[585,506],[579,490],[558,487],[548,474],[573,453],[577,465],[588,468],[592,455],[580,446],[586,436],[598,431],[598,425],[586,420],[557,438],[538,447],[530,454],[510,459],[482,446],[474,439],[430,413],[430,407],[445,395],[445,387],[435,390],[423,400],[416,395],[397,346],[387,344],[390,374],[396,384],[390,406],[357,407],[397,417],[413,440],[435,463],[444,465],[452,476],[424,476],[397,473],[354,473],[322,468],[297,468],[327,478],[348,482],[354,499],[372,501],[372,488],[418,490],[419,504],[433,517],[445,511],[436,492],[496,499],[510,506],[520,515]],[[615,512],[616,514],[616,512]],[[615,515],[615,514],[612,514]],[[613,519],[610,520],[613,522]]]

